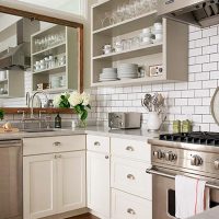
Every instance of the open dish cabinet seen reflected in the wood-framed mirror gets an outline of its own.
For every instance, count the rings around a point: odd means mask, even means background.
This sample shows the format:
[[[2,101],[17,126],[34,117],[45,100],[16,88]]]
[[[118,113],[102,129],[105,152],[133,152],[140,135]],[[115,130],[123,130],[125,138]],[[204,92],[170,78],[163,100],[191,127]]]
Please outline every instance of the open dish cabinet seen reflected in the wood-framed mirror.
[[[61,25],[32,35],[33,91],[78,90],[78,30]]]

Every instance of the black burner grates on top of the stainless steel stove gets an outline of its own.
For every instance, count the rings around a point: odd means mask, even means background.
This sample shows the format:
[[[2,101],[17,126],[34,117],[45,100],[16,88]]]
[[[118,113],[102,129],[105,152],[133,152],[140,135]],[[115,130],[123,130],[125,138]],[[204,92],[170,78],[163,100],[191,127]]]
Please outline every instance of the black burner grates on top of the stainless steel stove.
[[[189,134],[163,134],[163,135],[160,135],[159,139],[165,140],[165,141],[197,143],[197,145],[219,147],[219,132],[194,131]]]

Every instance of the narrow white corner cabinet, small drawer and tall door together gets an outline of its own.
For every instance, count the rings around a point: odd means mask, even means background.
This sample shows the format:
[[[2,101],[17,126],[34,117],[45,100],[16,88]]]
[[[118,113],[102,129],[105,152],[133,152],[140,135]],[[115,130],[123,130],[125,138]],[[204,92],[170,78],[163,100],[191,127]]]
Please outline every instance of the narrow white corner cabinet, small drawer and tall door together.
[[[87,146],[88,207],[97,217],[110,219],[110,138],[88,136]]]

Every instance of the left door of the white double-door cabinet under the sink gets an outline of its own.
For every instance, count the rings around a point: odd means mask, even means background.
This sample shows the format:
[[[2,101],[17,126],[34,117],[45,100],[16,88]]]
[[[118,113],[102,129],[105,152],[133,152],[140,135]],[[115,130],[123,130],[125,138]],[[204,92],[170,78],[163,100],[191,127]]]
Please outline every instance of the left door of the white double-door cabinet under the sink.
[[[24,219],[55,215],[57,209],[57,172],[54,154],[23,158]]]

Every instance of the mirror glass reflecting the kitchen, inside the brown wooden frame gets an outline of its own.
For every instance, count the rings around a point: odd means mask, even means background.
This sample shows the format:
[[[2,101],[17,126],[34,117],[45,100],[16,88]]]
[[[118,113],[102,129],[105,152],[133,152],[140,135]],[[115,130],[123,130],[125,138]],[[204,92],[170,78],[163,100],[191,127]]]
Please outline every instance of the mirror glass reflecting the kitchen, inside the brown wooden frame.
[[[35,107],[79,90],[78,30],[0,13],[0,105]],[[46,105],[49,106],[49,105]]]

